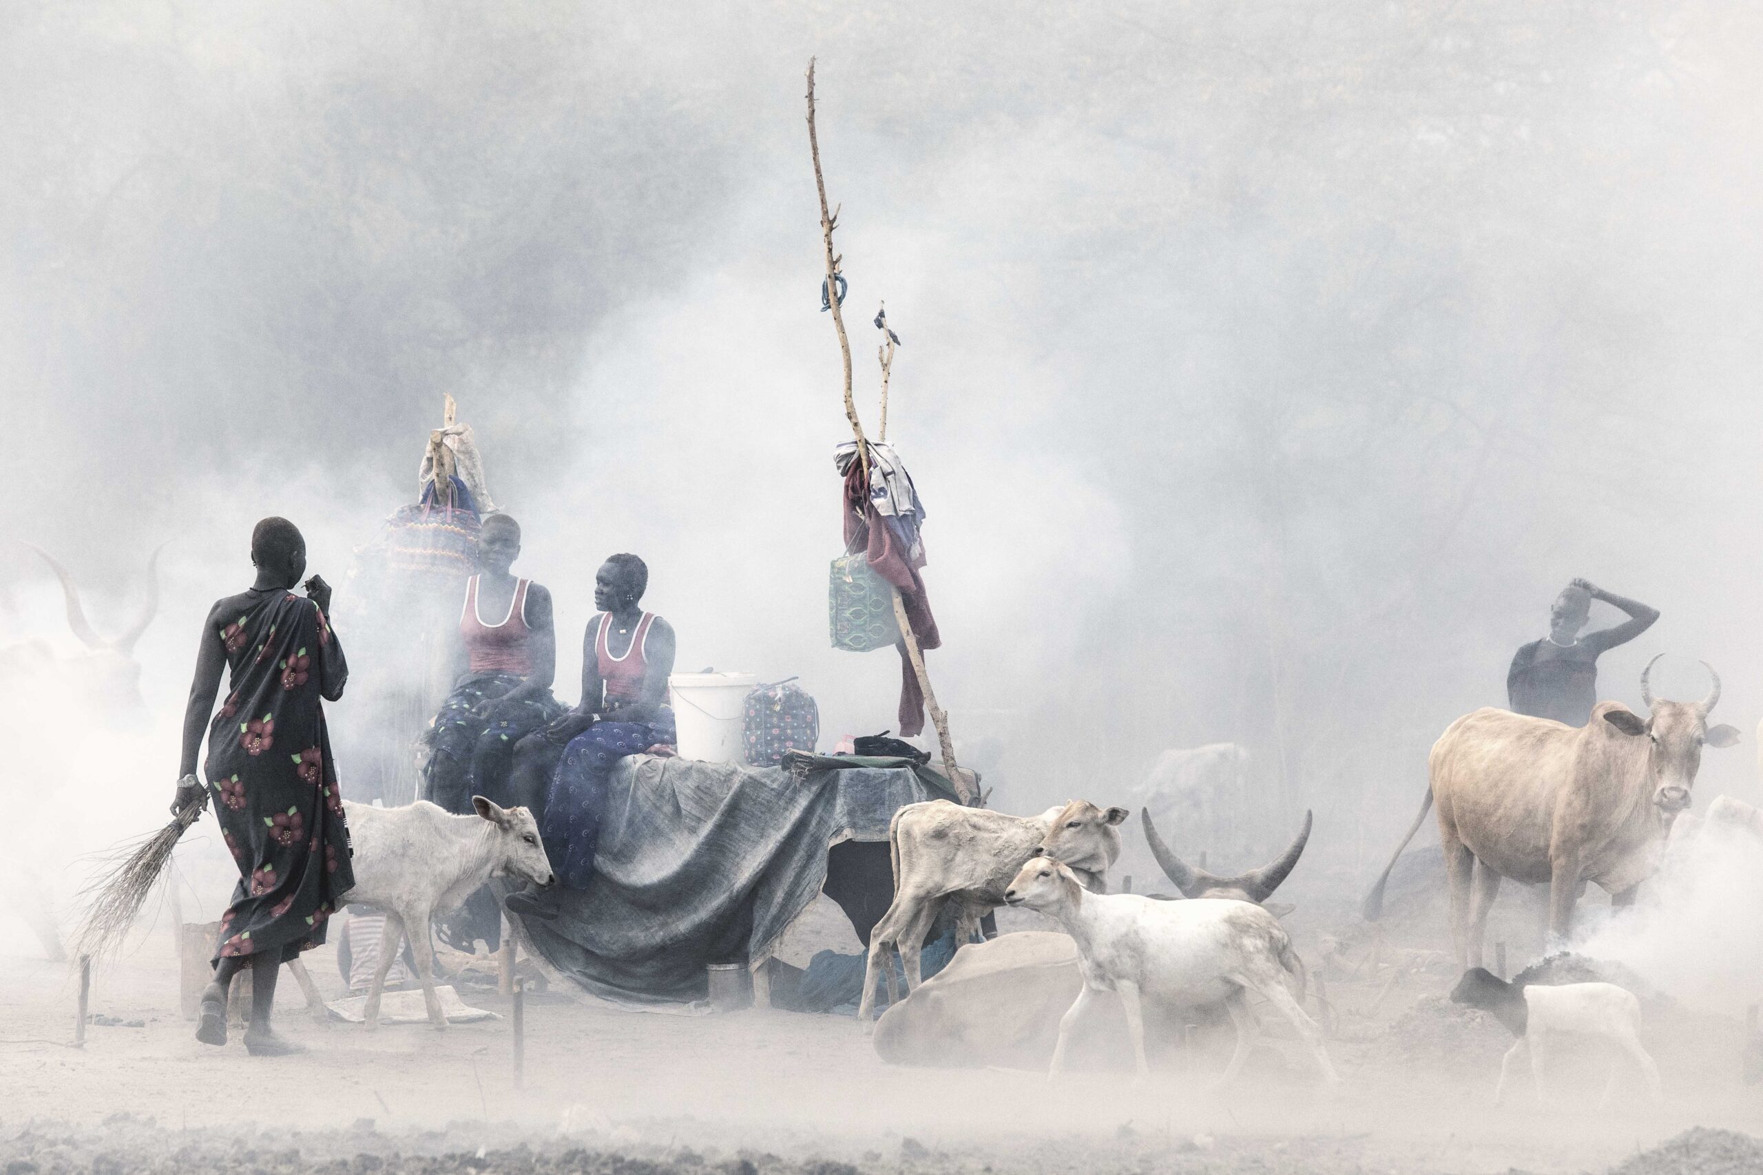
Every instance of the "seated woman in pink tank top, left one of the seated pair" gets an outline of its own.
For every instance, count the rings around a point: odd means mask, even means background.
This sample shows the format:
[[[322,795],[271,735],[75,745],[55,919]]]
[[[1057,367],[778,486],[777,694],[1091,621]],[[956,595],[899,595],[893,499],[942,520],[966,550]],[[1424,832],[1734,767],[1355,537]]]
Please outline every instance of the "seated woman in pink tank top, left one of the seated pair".
[[[423,798],[471,812],[472,796],[508,802],[515,743],[562,713],[552,698],[557,632],[552,597],[511,571],[520,523],[490,514],[478,532],[478,574],[465,581],[455,685],[428,731]]]

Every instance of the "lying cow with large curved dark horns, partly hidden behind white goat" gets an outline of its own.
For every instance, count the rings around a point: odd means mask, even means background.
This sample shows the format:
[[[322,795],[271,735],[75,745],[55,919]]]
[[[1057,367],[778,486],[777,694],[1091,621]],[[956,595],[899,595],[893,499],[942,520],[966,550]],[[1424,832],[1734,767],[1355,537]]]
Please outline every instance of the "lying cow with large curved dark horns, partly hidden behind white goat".
[[[1141,814],[1144,835],[1164,872],[1186,898],[1236,898],[1264,904],[1269,913],[1291,905],[1268,902],[1298,865],[1310,839],[1305,826],[1280,860],[1262,868],[1216,877],[1190,868],[1157,835],[1151,814]],[[1060,1018],[1077,999],[1084,978],[1077,944],[1067,934],[1028,930],[977,942],[876,1022],[874,1048],[890,1064],[1012,1066],[1047,1064],[1060,1034]],[[1093,1024],[1091,1036],[1109,1024]],[[1098,1048],[1109,1039],[1093,1039]],[[1120,1041],[1121,1045],[1125,1041]]]

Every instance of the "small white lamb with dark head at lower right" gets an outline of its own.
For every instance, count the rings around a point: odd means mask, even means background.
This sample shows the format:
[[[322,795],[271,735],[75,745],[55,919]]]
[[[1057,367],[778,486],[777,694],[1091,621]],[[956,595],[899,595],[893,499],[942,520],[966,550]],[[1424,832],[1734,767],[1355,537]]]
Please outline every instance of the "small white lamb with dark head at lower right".
[[[1641,1002],[1634,992],[1615,983],[1562,983],[1557,987],[1507,983],[1483,967],[1470,967],[1458,979],[1451,999],[1458,1004],[1481,1008],[1518,1038],[1518,1043],[1500,1060],[1500,1083],[1493,1087],[1493,1105],[1506,1097],[1506,1078],[1518,1053],[1530,1052],[1530,1080],[1543,1101],[1543,1059],[1558,1036],[1601,1036],[1618,1052],[1629,1055],[1647,1078],[1654,1101],[1663,1101],[1659,1066],[1641,1048]],[[1618,1069],[1610,1066],[1610,1082],[1599,1106],[1610,1101],[1617,1089]]]

